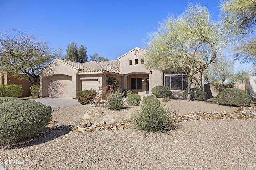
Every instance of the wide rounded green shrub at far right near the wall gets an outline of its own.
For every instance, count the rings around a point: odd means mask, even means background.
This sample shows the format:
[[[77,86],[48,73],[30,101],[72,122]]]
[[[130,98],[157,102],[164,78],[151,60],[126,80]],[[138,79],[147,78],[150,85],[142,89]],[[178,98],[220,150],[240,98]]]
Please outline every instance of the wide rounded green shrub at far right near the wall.
[[[217,101],[226,105],[248,106],[251,104],[252,96],[238,88],[226,88],[219,92]]]

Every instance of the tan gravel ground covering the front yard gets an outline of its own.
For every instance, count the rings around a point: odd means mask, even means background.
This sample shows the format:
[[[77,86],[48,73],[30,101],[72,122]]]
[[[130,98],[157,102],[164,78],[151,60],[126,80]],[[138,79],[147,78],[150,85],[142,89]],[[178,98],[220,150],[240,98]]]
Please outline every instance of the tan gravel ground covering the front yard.
[[[171,100],[178,114],[232,112],[238,107],[214,101]],[[72,125],[92,106],[74,105],[52,112],[52,118]],[[101,107],[92,122],[119,121],[139,107],[121,111]],[[0,163],[9,169],[256,169],[255,120],[196,120],[174,123],[172,136],[145,137],[133,129],[78,133],[47,128],[36,139],[0,147]]]

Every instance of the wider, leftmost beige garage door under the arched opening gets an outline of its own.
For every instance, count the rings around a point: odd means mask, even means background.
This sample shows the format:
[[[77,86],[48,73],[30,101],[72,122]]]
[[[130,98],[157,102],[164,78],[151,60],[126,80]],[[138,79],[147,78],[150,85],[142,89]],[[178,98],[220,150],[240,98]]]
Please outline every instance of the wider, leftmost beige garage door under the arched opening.
[[[51,98],[73,98],[72,77],[48,78],[48,94]]]

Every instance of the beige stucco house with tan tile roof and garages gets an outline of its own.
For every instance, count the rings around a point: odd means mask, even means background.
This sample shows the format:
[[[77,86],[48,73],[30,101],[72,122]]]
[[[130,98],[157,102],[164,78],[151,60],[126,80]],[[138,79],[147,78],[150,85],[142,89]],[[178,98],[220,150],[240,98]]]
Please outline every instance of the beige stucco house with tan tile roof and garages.
[[[188,77],[182,71],[160,71],[146,68],[148,51],[134,48],[113,61],[79,63],[56,58],[40,70],[40,97],[76,98],[84,89],[99,90],[107,86],[108,77],[121,82],[122,90],[132,90],[139,95],[152,95],[157,85],[169,86],[182,94],[187,89]],[[202,86],[202,75],[194,78],[192,86]]]

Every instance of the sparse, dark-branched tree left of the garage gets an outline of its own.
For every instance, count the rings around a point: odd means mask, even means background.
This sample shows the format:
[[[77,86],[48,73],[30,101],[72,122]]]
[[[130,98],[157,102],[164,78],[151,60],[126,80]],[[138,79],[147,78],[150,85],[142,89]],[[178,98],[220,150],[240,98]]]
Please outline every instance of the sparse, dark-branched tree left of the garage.
[[[24,74],[32,85],[38,82],[38,71],[59,55],[59,50],[38,40],[37,35],[17,29],[0,33],[0,69],[12,71],[13,76]]]

